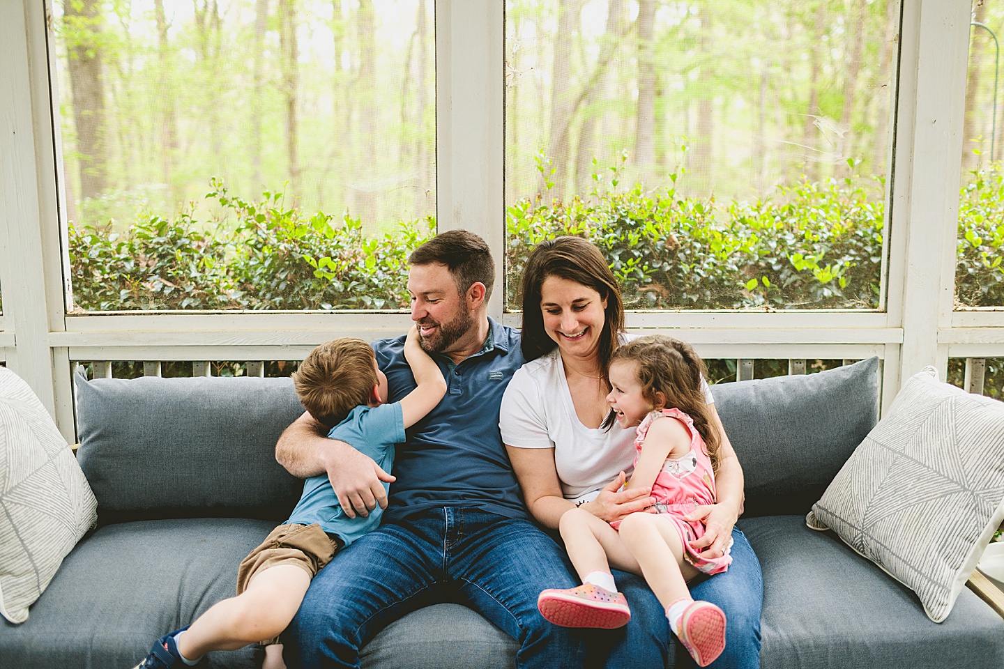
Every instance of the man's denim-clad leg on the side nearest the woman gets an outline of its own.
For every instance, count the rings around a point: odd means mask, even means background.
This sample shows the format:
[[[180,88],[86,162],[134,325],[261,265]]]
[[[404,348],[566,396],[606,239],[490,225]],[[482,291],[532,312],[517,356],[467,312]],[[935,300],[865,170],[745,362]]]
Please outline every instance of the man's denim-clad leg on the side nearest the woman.
[[[520,644],[517,669],[578,669],[591,632],[552,625],[537,610],[545,588],[572,588],[577,580],[563,550],[528,521],[470,509],[452,509],[461,528],[447,536],[449,577],[463,604]]]

